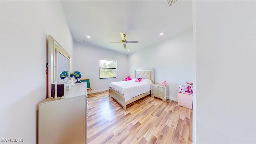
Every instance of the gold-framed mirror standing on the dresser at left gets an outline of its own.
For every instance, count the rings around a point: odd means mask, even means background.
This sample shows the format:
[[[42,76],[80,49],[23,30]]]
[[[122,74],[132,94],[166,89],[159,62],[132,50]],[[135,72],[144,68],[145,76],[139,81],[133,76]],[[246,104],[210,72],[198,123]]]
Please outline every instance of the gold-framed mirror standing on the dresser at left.
[[[70,80],[70,54],[51,36],[48,36],[48,97],[51,97],[51,84],[59,82],[60,73],[68,71]]]

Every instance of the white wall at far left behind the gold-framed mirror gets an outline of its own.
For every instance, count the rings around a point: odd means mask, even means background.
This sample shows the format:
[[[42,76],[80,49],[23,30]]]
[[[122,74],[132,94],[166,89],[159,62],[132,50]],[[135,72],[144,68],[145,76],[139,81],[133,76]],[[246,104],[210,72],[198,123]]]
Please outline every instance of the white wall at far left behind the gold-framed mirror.
[[[48,34],[73,55],[60,1],[0,2],[0,143],[38,140],[38,103],[46,98]],[[13,142],[3,142],[13,143]]]

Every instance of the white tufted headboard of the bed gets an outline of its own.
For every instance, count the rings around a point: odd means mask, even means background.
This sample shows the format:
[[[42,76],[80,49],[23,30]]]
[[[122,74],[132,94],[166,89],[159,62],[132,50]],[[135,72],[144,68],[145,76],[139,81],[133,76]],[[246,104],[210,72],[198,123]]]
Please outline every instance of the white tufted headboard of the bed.
[[[154,68],[138,68],[138,69],[135,69],[134,78],[149,79],[153,83],[155,83]]]

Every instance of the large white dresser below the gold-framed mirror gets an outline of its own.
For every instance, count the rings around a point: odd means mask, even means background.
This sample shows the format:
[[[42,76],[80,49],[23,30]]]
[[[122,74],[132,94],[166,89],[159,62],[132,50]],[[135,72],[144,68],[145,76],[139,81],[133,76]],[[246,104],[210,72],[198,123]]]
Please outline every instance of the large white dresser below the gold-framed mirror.
[[[64,98],[46,98],[38,104],[39,144],[85,144],[87,84],[75,84]]]

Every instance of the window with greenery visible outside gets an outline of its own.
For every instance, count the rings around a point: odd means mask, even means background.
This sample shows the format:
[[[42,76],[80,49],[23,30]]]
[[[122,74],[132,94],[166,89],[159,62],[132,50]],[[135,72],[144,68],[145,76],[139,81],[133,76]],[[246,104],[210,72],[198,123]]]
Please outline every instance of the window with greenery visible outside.
[[[100,79],[116,78],[116,60],[100,57]]]

